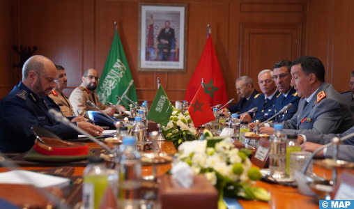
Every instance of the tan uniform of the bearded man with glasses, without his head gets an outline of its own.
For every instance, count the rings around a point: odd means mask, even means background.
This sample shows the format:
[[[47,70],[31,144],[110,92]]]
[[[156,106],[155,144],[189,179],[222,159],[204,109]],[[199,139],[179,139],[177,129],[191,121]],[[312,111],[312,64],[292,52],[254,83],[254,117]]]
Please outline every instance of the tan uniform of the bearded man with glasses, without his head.
[[[93,104],[96,104],[96,106],[101,110],[105,110],[108,108],[108,106],[102,104],[102,102],[98,100],[98,96],[95,91],[89,91],[84,84],[81,84],[79,87],[75,88],[74,91],[72,91],[69,98],[69,101],[72,104],[72,109],[74,109],[75,114],[78,112],[81,116],[88,118],[86,111],[96,111],[95,108],[91,107],[86,103],[87,100],[93,102]]]

